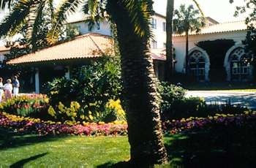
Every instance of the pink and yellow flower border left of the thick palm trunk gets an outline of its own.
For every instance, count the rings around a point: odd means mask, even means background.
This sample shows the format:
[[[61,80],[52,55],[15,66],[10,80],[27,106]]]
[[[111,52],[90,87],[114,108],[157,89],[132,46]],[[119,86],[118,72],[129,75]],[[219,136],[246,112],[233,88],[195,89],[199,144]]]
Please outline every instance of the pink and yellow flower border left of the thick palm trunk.
[[[48,134],[75,134],[75,135],[124,135],[127,134],[127,123],[59,123],[53,121],[41,121],[40,119],[24,118],[0,113],[0,126],[23,133]]]

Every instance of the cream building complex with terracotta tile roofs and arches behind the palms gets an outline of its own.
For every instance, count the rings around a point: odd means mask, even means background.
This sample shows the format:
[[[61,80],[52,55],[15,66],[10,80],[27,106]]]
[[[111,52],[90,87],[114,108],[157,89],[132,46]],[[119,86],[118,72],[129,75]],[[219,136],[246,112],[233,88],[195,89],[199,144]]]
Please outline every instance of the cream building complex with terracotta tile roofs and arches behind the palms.
[[[102,50],[102,47],[111,47],[110,42],[105,39],[111,39],[112,33],[108,21],[104,21],[89,29],[85,20],[70,20],[68,25],[78,28],[79,37],[54,45],[35,53],[31,53],[20,58],[9,61],[8,64],[23,64],[31,66],[34,69],[35,92],[40,92],[40,86],[45,81],[53,77],[42,79],[40,76],[47,74],[50,76],[64,76],[69,78],[72,66],[86,64],[86,61],[97,58],[89,52],[91,50]],[[154,60],[154,71],[159,80],[162,80],[165,72],[165,41],[166,41],[166,23],[165,16],[155,14],[151,18],[151,28],[153,39],[151,39],[151,56]],[[197,42],[233,39],[235,45],[230,47],[225,53],[223,64],[225,68],[225,80],[227,81],[249,81],[252,80],[252,65],[249,60],[249,53],[244,50],[242,41],[246,38],[247,27],[244,21],[218,23],[212,18],[206,18],[206,27],[199,33],[189,33],[189,74],[198,81],[211,81],[209,71],[211,69],[211,59],[203,48],[197,47]],[[176,72],[185,73],[185,37],[184,34],[173,34],[173,47],[176,55]],[[218,50],[218,48],[216,48]],[[1,54],[1,51],[0,51]],[[50,74],[48,72],[51,72]]]

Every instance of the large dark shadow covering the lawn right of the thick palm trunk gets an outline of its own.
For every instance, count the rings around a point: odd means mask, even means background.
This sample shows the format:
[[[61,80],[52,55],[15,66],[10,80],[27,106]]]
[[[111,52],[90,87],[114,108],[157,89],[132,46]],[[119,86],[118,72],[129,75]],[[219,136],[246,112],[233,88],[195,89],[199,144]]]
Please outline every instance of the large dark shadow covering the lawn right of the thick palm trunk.
[[[195,130],[165,136],[169,165],[159,167],[256,167],[255,127]],[[108,162],[101,167],[129,167],[129,162]]]

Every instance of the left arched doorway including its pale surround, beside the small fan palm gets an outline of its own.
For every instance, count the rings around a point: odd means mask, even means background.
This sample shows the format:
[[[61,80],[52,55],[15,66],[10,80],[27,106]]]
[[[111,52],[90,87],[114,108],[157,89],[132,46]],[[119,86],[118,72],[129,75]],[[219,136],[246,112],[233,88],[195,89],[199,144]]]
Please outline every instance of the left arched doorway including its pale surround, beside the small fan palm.
[[[189,52],[189,75],[197,81],[208,81],[210,61],[207,53],[200,47],[194,47]]]

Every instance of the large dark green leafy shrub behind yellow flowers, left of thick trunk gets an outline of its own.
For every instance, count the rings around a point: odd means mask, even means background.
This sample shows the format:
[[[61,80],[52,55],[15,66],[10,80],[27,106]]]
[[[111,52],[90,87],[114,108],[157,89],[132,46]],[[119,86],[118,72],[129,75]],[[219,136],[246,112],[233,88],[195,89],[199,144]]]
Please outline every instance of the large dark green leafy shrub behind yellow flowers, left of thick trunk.
[[[116,58],[101,58],[89,65],[74,70],[72,78],[59,78],[48,83],[50,104],[59,102],[69,107],[70,102],[78,102],[85,115],[90,111],[105,112],[110,99],[118,99],[121,94],[121,74]],[[95,116],[95,115],[94,115]]]

